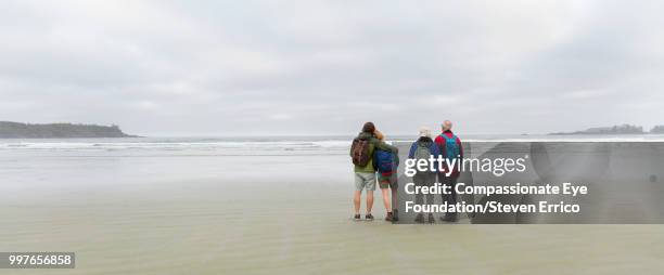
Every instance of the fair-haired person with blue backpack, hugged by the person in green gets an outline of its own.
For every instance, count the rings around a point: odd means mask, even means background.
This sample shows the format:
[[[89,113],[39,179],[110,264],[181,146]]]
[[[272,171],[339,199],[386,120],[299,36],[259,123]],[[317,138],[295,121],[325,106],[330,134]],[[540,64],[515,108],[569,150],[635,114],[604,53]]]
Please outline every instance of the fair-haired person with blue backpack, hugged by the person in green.
[[[385,140],[385,135],[383,135],[383,133],[381,133],[379,130],[375,130],[373,134],[380,141]],[[399,156],[391,150],[376,148],[373,152],[373,165],[375,166],[375,171],[379,175],[379,186],[383,193],[383,205],[387,211],[385,221],[396,222],[399,220],[398,210],[396,209],[397,188],[399,186],[397,181]]]

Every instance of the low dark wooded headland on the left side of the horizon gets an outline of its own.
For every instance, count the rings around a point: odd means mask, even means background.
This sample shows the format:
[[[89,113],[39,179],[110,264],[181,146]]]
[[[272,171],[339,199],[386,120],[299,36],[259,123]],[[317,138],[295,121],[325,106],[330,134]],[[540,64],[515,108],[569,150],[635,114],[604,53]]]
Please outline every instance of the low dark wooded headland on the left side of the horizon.
[[[0,139],[139,138],[124,133],[118,126],[49,123],[30,125],[0,121]]]

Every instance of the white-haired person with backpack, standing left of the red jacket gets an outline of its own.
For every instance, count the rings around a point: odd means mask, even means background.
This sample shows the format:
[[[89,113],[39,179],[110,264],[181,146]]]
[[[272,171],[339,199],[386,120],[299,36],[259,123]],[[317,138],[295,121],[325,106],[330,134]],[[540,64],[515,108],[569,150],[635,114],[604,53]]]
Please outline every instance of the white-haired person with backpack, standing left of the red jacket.
[[[410,146],[410,152],[408,152],[408,158],[413,159],[429,159],[431,156],[434,158],[438,158],[440,155],[440,150],[436,143],[431,139],[431,130],[429,128],[420,129],[420,138]],[[435,165],[437,166],[437,163]],[[433,171],[418,171],[412,176],[412,182],[416,186],[432,186],[436,181],[436,170]],[[424,205],[424,195],[416,194],[416,204]],[[434,205],[434,196],[433,194],[426,195],[426,204]],[[435,219],[433,218],[433,213],[429,213],[429,223],[434,223]],[[423,223],[424,217],[422,213],[418,213],[414,220],[417,223]]]

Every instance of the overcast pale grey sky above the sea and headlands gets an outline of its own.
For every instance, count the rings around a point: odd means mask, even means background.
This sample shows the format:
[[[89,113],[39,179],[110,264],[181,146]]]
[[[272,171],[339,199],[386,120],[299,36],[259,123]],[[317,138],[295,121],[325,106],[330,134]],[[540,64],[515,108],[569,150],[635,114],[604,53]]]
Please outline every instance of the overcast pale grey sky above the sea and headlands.
[[[142,135],[664,125],[663,1],[0,1],[0,120]]]

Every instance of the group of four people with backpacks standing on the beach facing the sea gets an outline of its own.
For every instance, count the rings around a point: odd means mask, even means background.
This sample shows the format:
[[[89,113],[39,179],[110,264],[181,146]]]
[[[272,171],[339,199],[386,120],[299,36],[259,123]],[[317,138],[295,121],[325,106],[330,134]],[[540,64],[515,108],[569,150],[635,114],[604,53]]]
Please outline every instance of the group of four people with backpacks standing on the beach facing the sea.
[[[440,134],[434,139],[432,136],[431,129],[421,128],[419,138],[410,146],[408,152],[408,158],[413,159],[429,159],[431,156],[438,158],[463,158],[463,147],[461,140],[451,131],[452,122],[445,120],[442,126]],[[365,220],[372,221],[373,215],[371,210],[373,208],[373,191],[375,191],[376,182],[381,188],[383,195],[383,204],[387,214],[385,221],[398,221],[397,206],[397,188],[398,188],[398,176],[397,167],[399,166],[398,148],[396,146],[385,143],[385,136],[383,133],[375,129],[373,122],[366,122],[362,126],[361,132],[353,140],[350,146],[350,157],[355,166],[355,194],[353,202],[355,207],[354,220],[360,221],[360,204],[362,191],[367,191],[367,209]],[[448,204],[457,204],[457,194],[454,193],[457,179],[459,178],[459,171],[456,167],[443,166],[444,169],[440,171],[426,171],[418,172],[413,175],[412,181],[416,185],[431,186],[436,180],[444,184],[451,186],[451,194],[443,195],[443,200]],[[449,173],[448,169],[451,169]],[[426,199],[426,201],[424,201]],[[423,196],[421,194],[416,196],[416,204],[434,204],[433,195]],[[444,222],[456,222],[458,220],[457,213],[445,213],[440,217],[440,221]],[[417,223],[434,223],[435,219],[432,213],[429,213],[427,220],[424,220],[424,215],[419,213],[416,217],[414,222]]]

